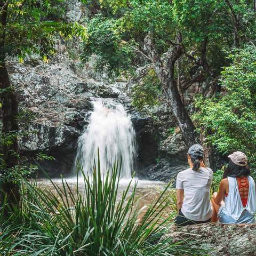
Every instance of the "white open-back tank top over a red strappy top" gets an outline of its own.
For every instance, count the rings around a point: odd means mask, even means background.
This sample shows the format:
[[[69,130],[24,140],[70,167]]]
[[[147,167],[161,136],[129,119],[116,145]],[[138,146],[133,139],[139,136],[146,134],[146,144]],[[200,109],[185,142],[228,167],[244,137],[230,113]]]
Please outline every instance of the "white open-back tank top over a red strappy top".
[[[247,178],[249,182],[249,194],[247,204],[244,207],[239,194],[236,178],[228,177],[228,195],[225,196],[225,212],[235,220],[240,218],[244,210],[247,210],[252,215],[256,213],[255,182],[251,176],[248,176]]]

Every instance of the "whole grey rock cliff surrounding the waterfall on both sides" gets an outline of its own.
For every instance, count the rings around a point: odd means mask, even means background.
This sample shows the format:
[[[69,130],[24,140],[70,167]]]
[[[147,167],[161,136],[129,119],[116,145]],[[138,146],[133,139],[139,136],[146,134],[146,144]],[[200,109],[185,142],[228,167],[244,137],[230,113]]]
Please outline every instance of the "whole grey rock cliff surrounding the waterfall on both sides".
[[[67,0],[66,19],[84,22],[87,10],[77,0]],[[165,104],[153,115],[138,113],[129,97],[131,83],[110,81],[106,74],[94,71],[94,57],[84,66],[78,58],[76,42],[55,45],[58,54],[42,62],[37,56],[25,63],[9,58],[7,68],[15,86],[20,113],[19,150],[33,161],[39,152],[55,161],[39,161],[52,177],[69,174],[76,155],[77,139],[88,125],[91,98],[115,98],[132,117],[138,143],[138,176],[167,181],[184,169],[186,146],[180,134],[167,130],[175,122]],[[186,159],[186,156],[185,156]]]

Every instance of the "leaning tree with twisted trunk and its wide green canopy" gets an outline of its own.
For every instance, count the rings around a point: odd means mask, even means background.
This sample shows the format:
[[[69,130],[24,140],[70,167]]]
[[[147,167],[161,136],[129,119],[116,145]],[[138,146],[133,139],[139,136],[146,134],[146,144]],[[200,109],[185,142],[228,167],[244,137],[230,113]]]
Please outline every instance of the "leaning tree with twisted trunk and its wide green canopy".
[[[138,67],[150,65],[189,146],[199,136],[183,96],[195,83],[203,95],[221,91],[218,76],[230,63],[223,50],[243,48],[255,38],[253,4],[245,0],[90,1],[94,15],[87,22],[83,58],[96,53],[97,68],[114,75],[133,75]],[[140,109],[153,95],[143,86],[134,90],[134,103]]]

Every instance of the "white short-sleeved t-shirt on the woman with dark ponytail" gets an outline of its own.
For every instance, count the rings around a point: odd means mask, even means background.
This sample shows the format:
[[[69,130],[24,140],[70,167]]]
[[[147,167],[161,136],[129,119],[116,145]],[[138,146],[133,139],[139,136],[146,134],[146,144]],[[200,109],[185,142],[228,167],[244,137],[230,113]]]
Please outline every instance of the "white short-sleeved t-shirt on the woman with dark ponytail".
[[[191,168],[179,172],[176,188],[184,189],[181,212],[190,220],[204,221],[212,217],[210,188],[213,172],[210,168],[200,167],[198,171]]]

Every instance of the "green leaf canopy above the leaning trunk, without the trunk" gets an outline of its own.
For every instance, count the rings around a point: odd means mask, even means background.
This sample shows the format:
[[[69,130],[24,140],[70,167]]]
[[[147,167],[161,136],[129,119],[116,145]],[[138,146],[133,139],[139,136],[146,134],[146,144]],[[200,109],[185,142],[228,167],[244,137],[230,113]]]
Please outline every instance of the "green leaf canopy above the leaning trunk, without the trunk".
[[[89,2],[89,7],[93,2],[98,9],[94,10],[97,14],[87,24],[84,58],[96,53],[98,67],[107,63],[109,71],[116,74],[138,67],[141,59],[150,62],[143,47],[148,34],[154,38],[158,53],[165,54],[170,45],[175,44],[177,33],[181,33],[185,47],[181,74],[188,79],[191,78],[191,69],[203,61],[201,46],[205,41],[207,62],[213,73],[218,75],[221,67],[228,63],[223,58],[222,49],[236,44],[233,31],[238,29],[239,46],[255,35],[253,1]]]

